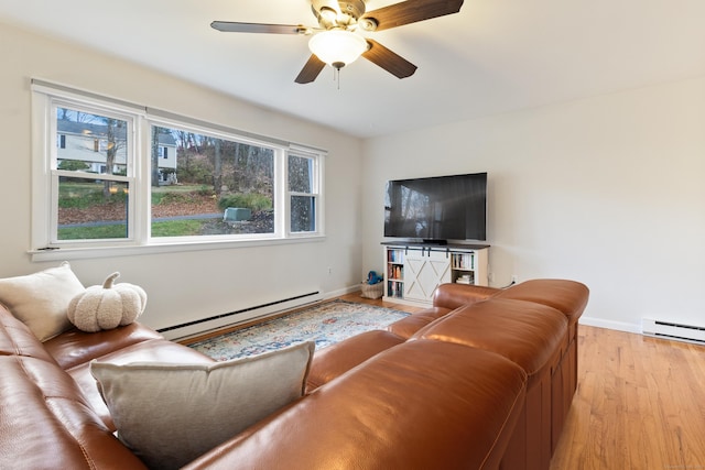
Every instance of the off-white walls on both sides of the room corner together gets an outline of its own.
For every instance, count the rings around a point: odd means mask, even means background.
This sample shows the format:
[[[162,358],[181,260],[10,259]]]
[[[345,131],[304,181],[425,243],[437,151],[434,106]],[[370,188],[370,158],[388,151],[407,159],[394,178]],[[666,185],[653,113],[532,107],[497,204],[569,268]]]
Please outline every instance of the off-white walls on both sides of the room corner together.
[[[12,26],[0,25],[0,276],[56,264],[26,254],[36,77],[329,151],[325,241],[72,263],[86,285],[120,271],[145,287],[153,327],[339,293],[382,270],[386,179],[484,171],[494,285],[570,277],[592,289],[587,321],[705,324],[705,77],[361,143]]]

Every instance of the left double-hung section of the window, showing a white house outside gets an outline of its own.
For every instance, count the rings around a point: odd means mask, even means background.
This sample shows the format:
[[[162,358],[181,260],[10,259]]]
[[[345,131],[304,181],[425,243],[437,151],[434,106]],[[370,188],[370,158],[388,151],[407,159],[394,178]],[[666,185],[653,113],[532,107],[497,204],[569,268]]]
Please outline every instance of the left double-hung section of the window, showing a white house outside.
[[[51,208],[56,231],[50,242],[130,238],[133,119],[58,101],[51,111],[52,129],[62,139],[50,153],[50,185],[56,194]]]

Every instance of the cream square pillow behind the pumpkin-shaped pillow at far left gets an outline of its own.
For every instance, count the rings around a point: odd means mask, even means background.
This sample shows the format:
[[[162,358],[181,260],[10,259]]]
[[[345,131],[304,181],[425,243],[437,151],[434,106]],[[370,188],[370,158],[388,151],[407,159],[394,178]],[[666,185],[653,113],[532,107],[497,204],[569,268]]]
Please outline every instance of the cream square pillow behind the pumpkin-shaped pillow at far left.
[[[0,280],[0,303],[40,341],[46,341],[72,327],[66,316],[68,303],[84,291],[64,261],[58,267]]]

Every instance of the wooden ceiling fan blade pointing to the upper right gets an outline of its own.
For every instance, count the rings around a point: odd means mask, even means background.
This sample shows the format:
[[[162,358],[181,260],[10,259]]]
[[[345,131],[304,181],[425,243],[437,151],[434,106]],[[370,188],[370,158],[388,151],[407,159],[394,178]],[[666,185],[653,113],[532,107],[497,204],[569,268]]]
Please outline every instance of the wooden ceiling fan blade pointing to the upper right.
[[[372,20],[377,25],[372,29],[382,31],[457,13],[460,7],[463,7],[463,0],[406,0],[369,11],[362,19]]]

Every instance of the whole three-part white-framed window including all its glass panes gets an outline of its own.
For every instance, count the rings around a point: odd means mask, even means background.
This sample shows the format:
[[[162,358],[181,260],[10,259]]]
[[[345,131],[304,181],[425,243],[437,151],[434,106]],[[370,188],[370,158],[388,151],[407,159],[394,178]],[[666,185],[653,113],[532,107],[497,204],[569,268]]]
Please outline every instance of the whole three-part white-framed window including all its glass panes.
[[[35,250],[323,234],[322,151],[36,80],[33,129]]]

